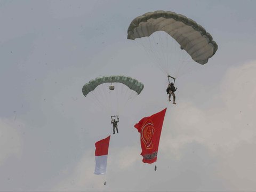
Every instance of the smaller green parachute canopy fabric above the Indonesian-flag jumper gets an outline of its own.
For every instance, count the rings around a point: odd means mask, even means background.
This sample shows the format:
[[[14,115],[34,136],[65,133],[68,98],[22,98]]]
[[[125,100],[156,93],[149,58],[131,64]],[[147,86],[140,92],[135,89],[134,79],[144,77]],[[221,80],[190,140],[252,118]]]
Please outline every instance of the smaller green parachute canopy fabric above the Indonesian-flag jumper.
[[[91,91],[93,91],[97,86],[103,84],[103,83],[122,83],[129,87],[131,90],[137,92],[139,95],[140,92],[143,90],[144,85],[139,82],[137,79],[134,79],[132,77],[127,77],[123,75],[111,75],[111,76],[103,76],[103,77],[97,77],[88,83],[86,83],[83,86],[82,92],[84,96]]]

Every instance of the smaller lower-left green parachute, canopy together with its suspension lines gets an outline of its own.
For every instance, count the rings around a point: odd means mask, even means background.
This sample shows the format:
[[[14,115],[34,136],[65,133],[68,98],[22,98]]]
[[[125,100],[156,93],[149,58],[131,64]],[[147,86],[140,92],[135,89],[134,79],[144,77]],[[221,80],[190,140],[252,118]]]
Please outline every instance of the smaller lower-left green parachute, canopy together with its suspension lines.
[[[97,77],[83,86],[82,92],[101,111],[118,115],[127,103],[141,93],[144,85],[123,75]]]

